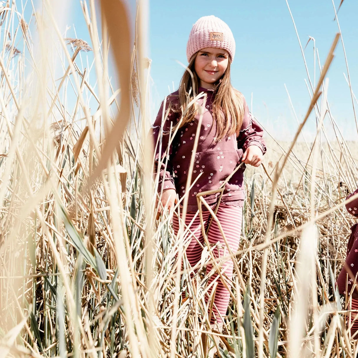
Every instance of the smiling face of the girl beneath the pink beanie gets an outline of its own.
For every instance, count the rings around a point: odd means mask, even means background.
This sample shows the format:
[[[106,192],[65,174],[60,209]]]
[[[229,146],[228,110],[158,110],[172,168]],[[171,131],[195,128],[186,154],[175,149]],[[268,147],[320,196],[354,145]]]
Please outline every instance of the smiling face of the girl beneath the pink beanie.
[[[195,57],[194,69],[200,79],[200,87],[214,89],[215,83],[225,73],[229,53],[221,48],[207,47]]]

